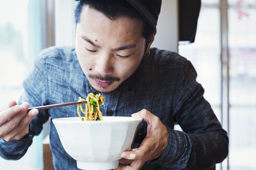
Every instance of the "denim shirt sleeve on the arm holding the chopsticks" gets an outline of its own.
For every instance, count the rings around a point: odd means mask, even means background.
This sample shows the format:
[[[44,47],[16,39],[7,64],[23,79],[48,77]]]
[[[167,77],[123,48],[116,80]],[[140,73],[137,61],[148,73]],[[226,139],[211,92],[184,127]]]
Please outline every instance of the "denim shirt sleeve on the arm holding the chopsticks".
[[[46,103],[47,86],[46,75],[43,64],[43,58],[38,56],[31,74],[24,80],[24,92],[20,96],[18,104],[28,102],[30,107],[41,106]],[[43,128],[43,123],[48,120],[47,111],[40,111],[31,121],[29,133],[20,140],[11,140],[9,142],[0,139],[0,155],[7,160],[18,160],[27,152],[32,144],[34,135],[39,135]]]

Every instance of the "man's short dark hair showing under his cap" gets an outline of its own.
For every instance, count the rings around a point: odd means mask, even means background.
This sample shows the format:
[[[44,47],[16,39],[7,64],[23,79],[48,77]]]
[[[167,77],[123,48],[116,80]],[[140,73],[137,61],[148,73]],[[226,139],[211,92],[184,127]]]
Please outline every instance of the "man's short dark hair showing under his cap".
[[[96,9],[104,13],[111,20],[116,20],[119,17],[127,16],[131,18],[140,19],[143,21],[142,37],[146,38],[146,47],[148,45],[150,37],[156,30],[156,27],[150,26],[146,20],[138,13],[138,11],[129,3],[122,0],[80,0],[75,8],[75,23],[80,21],[81,12],[84,6],[88,5],[91,8]],[[146,49],[145,49],[146,50]]]

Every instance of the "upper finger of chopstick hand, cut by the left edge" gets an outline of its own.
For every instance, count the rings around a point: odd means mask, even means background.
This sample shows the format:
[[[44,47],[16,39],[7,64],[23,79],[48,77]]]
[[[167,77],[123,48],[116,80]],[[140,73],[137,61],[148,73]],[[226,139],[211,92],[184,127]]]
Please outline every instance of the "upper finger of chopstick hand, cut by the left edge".
[[[12,118],[13,116],[17,115],[20,110],[21,110],[20,106],[15,105],[0,112],[0,116],[1,116],[0,126],[2,126],[7,120]]]

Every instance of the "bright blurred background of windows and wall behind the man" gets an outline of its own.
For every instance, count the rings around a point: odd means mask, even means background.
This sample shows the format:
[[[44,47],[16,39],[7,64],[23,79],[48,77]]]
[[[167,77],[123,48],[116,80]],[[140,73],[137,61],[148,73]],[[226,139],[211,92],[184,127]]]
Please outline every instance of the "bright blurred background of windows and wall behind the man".
[[[163,0],[152,46],[177,51],[195,66],[229,135],[228,158],[216,169],[256,169],[256,0],[202,0],[194,43],[180,39],[178,4]],[[0,107],[18,100],[36,54],[74,45],[74,7],[72,0],[0,0]],[[1,169],[43,169],[47,134],[46,124],[23,158],[0,158]]]

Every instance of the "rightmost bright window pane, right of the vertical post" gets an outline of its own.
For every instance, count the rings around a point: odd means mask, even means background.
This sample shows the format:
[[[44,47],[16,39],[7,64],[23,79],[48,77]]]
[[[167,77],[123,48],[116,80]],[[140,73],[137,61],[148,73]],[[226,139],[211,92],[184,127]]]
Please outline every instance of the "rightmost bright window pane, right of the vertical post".
[[[229,166],[255,169],[256,1],[228,3]]]

